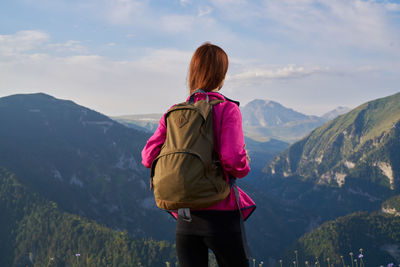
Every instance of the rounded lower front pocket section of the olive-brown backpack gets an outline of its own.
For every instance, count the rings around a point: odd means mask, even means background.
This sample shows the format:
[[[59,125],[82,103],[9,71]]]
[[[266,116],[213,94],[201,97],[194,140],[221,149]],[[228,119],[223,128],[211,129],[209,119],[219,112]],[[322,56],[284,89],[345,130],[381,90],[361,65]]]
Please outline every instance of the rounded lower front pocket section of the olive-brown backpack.
[[[153,163],[153,189],[160,208],[209,207],[229,194],[223,177],[209,177],[201,157],[188,150],[160,154]],[[228,189],[228,190],[227,190]]]

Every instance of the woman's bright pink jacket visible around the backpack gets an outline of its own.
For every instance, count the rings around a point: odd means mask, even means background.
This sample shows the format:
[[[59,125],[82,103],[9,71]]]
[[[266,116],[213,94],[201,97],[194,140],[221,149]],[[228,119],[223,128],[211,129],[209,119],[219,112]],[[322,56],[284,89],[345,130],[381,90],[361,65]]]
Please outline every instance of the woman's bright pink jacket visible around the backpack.
[[[225,100],[213,107],[214,149],[222,164],[226,179],[229,174],[234,177],[245,177],[249,171],[249,162],[244,149],[242,130],[242,115],[237,104],[228,101],[217,92],[207,93],[210,100]],[[189,99],[189,98],[188,98]],[[187,99],[187,100],[188,100]],[[204,94],[196,94],[195,101],[205,99]],[[165,114],[164,114],[165,116]],[[164,116],[160,119],[159,126],[152,137],[147,141],[142,150],[142,164],[151,168],[153,160],[158,156],[166,138]],[[247,219],[255,209],[254,201],[239,188],[239,205],[244,219]],[[218,204],[202,210],[237,210],[236,197],[233,189],[228,197]],[[174,214],[173,214],[174,215]],[[174,215],[176,217],[176,215]]]

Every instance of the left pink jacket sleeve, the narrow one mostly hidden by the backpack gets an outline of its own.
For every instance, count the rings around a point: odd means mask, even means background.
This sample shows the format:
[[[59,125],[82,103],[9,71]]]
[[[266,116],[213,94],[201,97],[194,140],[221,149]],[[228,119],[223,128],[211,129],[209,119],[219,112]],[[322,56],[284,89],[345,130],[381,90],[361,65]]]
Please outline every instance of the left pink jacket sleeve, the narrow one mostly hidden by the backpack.
[[[160,119],[158,128],[152,137],[147,140],[145,147],[142,150],[142,164],[146,168],[151,168],[153,160],[160,154],[162,145],[165,142],[167,129],[165,127],[165,114]]]

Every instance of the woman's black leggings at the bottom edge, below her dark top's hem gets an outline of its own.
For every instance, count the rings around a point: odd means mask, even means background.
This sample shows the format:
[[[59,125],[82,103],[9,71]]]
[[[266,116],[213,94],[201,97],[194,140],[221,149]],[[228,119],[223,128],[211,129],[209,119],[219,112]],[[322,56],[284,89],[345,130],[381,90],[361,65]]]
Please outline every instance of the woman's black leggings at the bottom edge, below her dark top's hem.
[[[207,267],[208,249],[214,252],[219,267],[249,266],[240,233],[221,236],[176,234],[180,267]]]

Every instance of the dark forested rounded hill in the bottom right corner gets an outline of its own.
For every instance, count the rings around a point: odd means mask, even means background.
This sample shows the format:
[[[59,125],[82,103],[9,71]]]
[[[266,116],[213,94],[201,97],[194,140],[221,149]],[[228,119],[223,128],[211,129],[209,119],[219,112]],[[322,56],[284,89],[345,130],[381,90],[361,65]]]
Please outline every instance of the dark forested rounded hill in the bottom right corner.
[[[326,222],[302,236],[287,249],[283,262],[296,260],[296,251],[299,265],[305,261],[313,264],[318,259],[321,265],[329,260],[336,266],[349,266],[356,259],[364,266],[389,266],[390,263],[397,266],[399,244],[400,217],[357,212]]]

